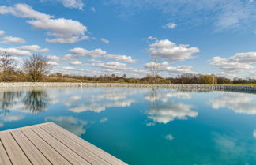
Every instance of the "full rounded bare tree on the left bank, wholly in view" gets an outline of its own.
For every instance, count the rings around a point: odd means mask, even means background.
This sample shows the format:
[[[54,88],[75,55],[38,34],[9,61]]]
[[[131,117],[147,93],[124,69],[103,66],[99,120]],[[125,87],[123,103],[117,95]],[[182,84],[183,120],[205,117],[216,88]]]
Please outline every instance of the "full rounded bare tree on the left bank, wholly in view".
[[[32,57],[24,61],[23,69],[32,82],[37,82],[49,73],[51,66],[46,57],[40,54],[33,54]]]

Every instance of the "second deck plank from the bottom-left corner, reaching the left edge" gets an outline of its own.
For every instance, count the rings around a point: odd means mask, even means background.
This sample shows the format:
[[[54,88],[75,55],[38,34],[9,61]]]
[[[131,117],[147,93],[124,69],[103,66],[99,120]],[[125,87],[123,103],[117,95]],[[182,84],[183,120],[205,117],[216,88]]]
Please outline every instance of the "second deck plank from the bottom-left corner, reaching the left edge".
[[[0,138],[13,165],[32,164],[10,133],[1,133]]]

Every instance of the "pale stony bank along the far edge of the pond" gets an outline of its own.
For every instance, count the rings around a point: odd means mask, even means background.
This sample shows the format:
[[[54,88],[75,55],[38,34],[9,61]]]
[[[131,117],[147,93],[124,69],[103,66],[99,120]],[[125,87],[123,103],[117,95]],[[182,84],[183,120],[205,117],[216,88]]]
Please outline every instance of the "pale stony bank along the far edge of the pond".
[[[121,87],[121,88],[174,88],[174,89],[211,89],[227,91],[256,92],[255,86],[223,84],[124,84],[124,83],[67,83],[67,82],[14,82],[0,83],[0,88],[17,87]]]

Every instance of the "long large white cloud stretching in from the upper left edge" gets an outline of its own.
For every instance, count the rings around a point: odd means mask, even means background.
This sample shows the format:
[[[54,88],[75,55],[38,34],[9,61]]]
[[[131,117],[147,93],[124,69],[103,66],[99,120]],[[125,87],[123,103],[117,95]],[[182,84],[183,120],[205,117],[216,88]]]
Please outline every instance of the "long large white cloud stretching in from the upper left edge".
[[[40,13],[26,4],[17,4],[14,6],[0,6],[0,14],[10,13],[13,16],[31,19],[27,23],[33,28],[47,31],[46,41],[50,43],[76,43],[84,39],[87,27],[79,21],[73,21],[65,18],[55,18],[54,16]]]

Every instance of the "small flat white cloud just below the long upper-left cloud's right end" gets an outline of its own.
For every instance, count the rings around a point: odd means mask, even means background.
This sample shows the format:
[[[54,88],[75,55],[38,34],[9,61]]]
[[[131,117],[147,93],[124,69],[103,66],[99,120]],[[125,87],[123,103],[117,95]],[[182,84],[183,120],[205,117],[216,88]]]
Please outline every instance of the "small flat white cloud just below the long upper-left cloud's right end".
[[[90,57],[90,58],[100,58],[102,55],[107,54],[106,51],[102,51],[100,48],[92,51],[88,51],[87,49],[76,47],[70,49],[69,52],[75,54],[77,57]]]

